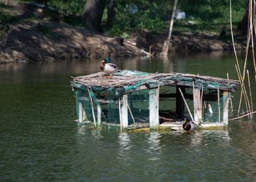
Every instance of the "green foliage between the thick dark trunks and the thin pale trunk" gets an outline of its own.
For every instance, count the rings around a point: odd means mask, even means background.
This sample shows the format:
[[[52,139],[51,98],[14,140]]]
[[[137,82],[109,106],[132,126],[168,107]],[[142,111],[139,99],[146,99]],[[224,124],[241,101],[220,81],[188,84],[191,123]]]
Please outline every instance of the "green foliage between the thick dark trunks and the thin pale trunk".
[[[136,7],[137,12],[133,12]],[[133,9],[134,8],[134,9]],[[134,3],[117,3],[116,20],[110,30],[110,34],[131,34],[136,31],[147,29],[148,31],[161,32],[165,30],[165,21],[161,9],[157,3],[150,1],[138,1]]]

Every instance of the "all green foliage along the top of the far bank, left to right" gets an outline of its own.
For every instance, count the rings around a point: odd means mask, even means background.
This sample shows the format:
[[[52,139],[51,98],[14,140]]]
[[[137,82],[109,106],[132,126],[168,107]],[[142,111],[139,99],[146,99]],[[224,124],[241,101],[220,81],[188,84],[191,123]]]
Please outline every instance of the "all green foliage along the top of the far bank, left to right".
[[[27,1],[27,0],[20,0]],[[34,0],[42,3],[42,0]],[[115,0],[116,19],[108,34],[129,37],[140,31],[167,32],[174,0]],[[62,21],[75,26],[84,26],[82,13],[86,0],[48,0],[52,6],[63,13]],[[229,0],[184,0],[178,1],[177,9],[185,12],[186,18],[174,21],[174,31],[178,32],[220,32],[229,27]],[[246,10],[245,0],[232,1],[232,22],[234,27],[242,20]],[[1,10],[0,10],[1,13]],[[48,18],[58,18],[46,14]],[[107,19],[107,8],[103,14],[103,30]],[[17,21],[10,14],[0,14],[0,21]]]

